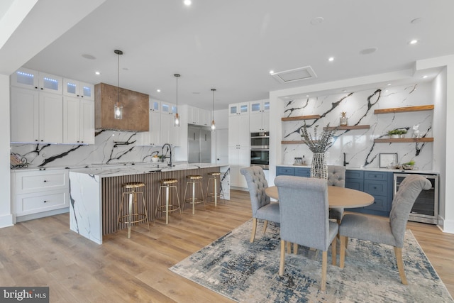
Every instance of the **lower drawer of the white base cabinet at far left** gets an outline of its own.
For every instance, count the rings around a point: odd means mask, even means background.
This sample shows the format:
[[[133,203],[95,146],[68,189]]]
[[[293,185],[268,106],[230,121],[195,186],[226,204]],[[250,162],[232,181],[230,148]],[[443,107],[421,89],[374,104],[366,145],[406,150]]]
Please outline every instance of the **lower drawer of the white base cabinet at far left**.
[[[19,194],[16,198],[16,216],[35,214],[69,206],[67,192],[42,192]]]

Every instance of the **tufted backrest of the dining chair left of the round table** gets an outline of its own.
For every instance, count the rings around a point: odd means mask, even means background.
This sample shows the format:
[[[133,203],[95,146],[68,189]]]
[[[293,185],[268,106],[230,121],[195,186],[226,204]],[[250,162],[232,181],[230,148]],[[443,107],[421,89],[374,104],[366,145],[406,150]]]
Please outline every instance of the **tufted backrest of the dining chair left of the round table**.
[[[265,173],[263,173],[262,167],[258,166],[243,167],[240,172],[246,178],[246,182],[248,182],[253,217],[256,217],[258,209],[271,202],[270,197],[265,194],[265,188],[268,187]]]

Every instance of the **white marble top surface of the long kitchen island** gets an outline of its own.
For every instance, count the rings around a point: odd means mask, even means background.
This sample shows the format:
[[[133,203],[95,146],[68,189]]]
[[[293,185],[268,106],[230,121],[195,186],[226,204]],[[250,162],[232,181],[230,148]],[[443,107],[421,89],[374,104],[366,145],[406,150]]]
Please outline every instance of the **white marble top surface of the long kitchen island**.
[[[89,167],[71,169],[71,172],[79,172],[87,175],[95,175],[99,177],[118,177],[126,175],[146,174],[148,172],[170,172],[175,170],[195,170],[208,167],[223,167],[228,166],[227,163],[188,163],[175,162],[172,167],[166,163],[134,163],[126,165],[91,165]]]

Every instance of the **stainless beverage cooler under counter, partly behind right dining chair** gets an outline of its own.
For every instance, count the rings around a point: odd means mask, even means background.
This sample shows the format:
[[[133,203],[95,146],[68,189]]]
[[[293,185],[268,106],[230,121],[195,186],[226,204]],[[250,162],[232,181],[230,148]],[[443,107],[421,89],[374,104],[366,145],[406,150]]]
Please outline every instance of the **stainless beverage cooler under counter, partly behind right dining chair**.
[[[405,177],[414,174],[394,174],[394,195]],[[421,174],[418,174],[421,175]],[[409,221],[438,224],[438,175],[421,175],[432,183],[432,188],[422,190],[411,209]]]

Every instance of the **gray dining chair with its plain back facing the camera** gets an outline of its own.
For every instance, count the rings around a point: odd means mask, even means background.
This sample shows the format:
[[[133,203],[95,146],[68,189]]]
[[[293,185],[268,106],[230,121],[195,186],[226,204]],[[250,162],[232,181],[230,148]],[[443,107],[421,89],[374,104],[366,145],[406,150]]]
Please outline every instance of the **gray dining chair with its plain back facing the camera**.
[[[321,290],[325,290],[328,248],[331,243],[333,265],[336,265],[336,235],[338,233],[338,224],[328,219],[326,180],[277,176],[275,184],[279,192],[281,218],[279,275],[284,275],[286,241],[316,248],[322,251]]]

